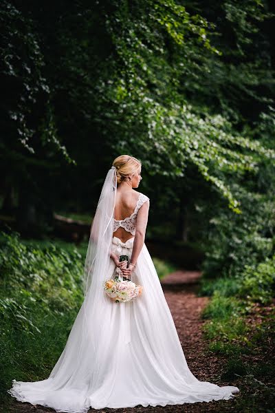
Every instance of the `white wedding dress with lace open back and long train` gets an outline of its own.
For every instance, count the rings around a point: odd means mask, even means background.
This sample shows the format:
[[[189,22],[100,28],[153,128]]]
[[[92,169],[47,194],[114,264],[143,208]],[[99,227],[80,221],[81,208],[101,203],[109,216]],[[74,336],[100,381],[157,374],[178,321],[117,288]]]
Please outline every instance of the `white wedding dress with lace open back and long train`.
[[[122,226],[134,234],[138,210],[146,200],[140,193],[131,217],[113,219],[113,229]],[[112,251],[131,258],[133,240],[122,242],[113,237]],[[110,259],[105,279],[111,278],[114,270]],[[190,372],[146,244],[131,279],[143,286],[140,297],[114,303],[102,290],[104,318],[93,315],[90,339],[80,345],[77,337],[81,336],[83,301],[50,377],[36,382],[13,380],[8,392],[19,401],[67,413],[86,413],[89,407],[165,406],[234,397],[238,388],[199,381]],[[95,349],[91,343],[98,332],[96,324],[98,330],[102,328],[102,337]]]

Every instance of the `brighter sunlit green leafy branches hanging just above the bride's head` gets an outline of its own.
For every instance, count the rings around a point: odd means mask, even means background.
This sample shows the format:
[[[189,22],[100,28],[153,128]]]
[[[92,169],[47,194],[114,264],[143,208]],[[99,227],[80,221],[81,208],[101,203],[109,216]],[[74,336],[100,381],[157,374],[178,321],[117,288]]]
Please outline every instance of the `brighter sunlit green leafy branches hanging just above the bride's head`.
[[[193,17],[185,8],[173,8],[172,1],[163,2],[162,6],[160,3],[155,8],[165,14],[165,21],[174,22],[179,10],[181,13],[184,10],[187,25],[179,19],[177,33],[192,32],[188,21]],[[153,13],[146,13],[147,6],[148,2],[139,3],[139,8],[127,7],[125,2],[122,7],[120,2],[120,7],[109,16],[108,28],[120,59],[115,61],[114,52],[114,78],[108,85],[98,85],[104,105],[108,102],[109,107],[105,113],[108,129],[106,119],[98,116],[102,132],[114,136],[120,127],[120,140],[112,140],[113,148],[118,153],[130,149],[140,156],[150,174],[182,177],[187,167],[195,165],[198,175],[213,184],[229,201],[230,208],[240,213],[239,202],[226,176],[228,173],[239,176],[243,171],[256,173],[259,159],[274,158],[274,151],[245,134],[236,133],[221,114],[212,115],[206,107],[197,108],[186,101],[179,79],[186,67],[190,70],[195,59],[197,63],[203,61],[200,41],[187,35],[184,42],[170,44],[173,23],[161,30]],[[198,21],[207,27],[205,19]],[[206,36],[205,30],[202,32]],[[211,52],[215,54],[217,50],[211,47]]]

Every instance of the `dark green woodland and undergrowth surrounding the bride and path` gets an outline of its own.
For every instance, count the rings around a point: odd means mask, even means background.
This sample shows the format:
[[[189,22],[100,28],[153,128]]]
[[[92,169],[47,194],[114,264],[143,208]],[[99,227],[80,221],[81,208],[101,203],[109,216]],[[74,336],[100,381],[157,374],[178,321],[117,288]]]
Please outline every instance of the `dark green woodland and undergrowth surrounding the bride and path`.
[[[127,153],[142,161],[159,277],[202,271],[210,351],[247,389],[236,408],[273,411],[274,11],[267,0],[1,1],[3,394],[16,375],[47,374],[63,348],[102,182]]]

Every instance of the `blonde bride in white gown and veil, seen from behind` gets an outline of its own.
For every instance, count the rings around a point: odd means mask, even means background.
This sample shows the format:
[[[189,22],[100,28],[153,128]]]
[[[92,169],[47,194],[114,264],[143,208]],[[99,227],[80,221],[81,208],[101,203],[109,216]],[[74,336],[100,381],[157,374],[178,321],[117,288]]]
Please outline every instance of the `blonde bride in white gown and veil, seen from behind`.
[[[239,389],[190,372],[159,277],[144,244],[149,198],[138,193],[141,162],[115,158],[105,178],[85,260],[85,299],[48,379],[13,380],[17,400],[86,413],[89,407],[179,405],[230,399]],[[127,255],[129,263],[120,262]],[[128,266],[127,266],[128,264]],[[115,303],[103,290],[118,275],[143,287]]]

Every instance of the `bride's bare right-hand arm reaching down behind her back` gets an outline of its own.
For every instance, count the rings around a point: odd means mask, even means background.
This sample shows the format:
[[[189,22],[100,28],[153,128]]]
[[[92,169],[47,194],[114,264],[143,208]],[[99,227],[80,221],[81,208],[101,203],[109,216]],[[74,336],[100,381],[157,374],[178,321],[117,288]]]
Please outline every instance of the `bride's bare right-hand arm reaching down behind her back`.
[[[133,264],[137,263],[137,257],[140,255],[140,251],[142,250],[142,246],[144,244],[145,234],[146,234],[146,226],[148,222],[148,211],[149,211],[149,200],[144,202],[142,207],[138,210],[137,213],[137,223],[135,228],[135,238],[133,240],[133,251],[131,256],[131,262]],[[124,275],[131,275],[134,266],[129,264],[129,268],[123,269]]]

